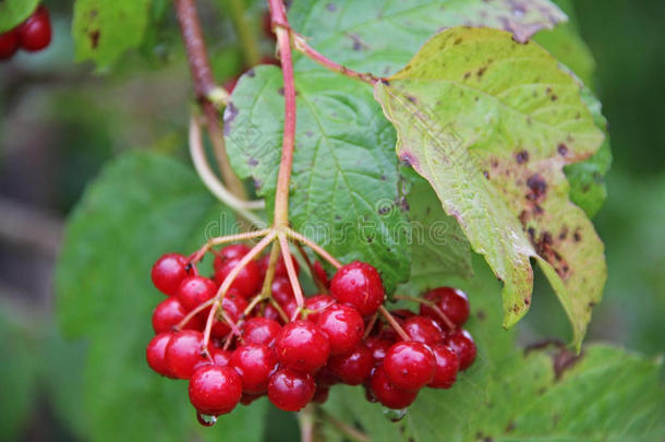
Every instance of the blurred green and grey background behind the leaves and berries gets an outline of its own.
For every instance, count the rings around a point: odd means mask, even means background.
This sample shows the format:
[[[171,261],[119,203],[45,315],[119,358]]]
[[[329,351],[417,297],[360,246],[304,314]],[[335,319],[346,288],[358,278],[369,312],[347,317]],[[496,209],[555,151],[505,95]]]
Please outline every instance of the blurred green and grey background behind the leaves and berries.
[[[218,80],[241,72],[227,16],[200,2]],[[0,64],[0,440],[78,440],[85,343],[68,343],[53,319],[51,272],[68,213],[104,162],[132,150],[185,158],[191,83],[170,2],[158,1],[144,47],[110,72],[75,63],[71,4],[46,1],[52,45]],[[609,198],[594,223],[609,278],[588,341],[646,355],[665,336],[665,2],[578,1],[578,25],[596,60],[594,91],[609,121]],[[259,35],[262,9],[247,17]],[[214,24],[214,25],[213,25]],[[166,31],[165,31],[166,29]],[[270,55],[267,39],[261,41]],[[557,314],[552,314],[552,311]],[[536,287],[523,343],[566,336],[549,289]],[[146,319],[147,321],[147,319]],[[29,409],[27,415],[23,409]],[[289,440],[292,417],[271,418],[265,440]],[[282,439],[283,438],[283,439]]]

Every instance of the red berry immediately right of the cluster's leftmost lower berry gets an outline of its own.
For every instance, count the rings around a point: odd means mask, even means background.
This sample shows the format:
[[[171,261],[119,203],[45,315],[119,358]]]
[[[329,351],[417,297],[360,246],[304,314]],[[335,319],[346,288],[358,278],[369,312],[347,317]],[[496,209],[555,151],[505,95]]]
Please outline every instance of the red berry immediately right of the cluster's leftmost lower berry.
[[[166,347],[166,362],[170,372],[178,379],[189,379],[196,367],[208,365],[201,356],[203,334],[193,330],[183,330],[171,336]]]

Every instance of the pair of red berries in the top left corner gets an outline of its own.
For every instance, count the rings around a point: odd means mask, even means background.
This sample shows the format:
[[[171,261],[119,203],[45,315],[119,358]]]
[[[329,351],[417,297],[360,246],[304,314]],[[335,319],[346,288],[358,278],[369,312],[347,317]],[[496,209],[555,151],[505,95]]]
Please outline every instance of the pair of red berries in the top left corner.
[[[0,60],[9,60],[19,49],[41,50],[50,43],[51,22],[48,10],[40,4],[25,22],[0,34]]]

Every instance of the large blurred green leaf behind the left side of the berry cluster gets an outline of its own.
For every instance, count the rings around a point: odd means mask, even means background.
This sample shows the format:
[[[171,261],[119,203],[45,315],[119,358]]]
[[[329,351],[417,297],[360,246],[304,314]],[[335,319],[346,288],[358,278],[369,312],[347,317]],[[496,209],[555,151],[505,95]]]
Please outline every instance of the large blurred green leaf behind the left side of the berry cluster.
[[[160,254],[190,253],[234,231],[234,222],[191,168],[155,154],[121,156],[86,190],[68,224],[56,292],[63,330],[88,341],[78,410],[87,439],[182,441],[201,431],[186,383],[145,362],[152,310],[164,299],[149,274]],[[261,403],[238,408],[206,439],[255,440],[264,411]]]

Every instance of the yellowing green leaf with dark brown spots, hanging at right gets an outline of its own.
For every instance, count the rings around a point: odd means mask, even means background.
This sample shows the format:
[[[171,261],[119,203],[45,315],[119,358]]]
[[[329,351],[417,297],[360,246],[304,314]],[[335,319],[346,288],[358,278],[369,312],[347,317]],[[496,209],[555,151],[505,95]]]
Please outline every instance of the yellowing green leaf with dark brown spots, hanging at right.
[[[563,172],[603,141],[580,87],[533,43],[454,28],[375,91],[397,128],[399,157],[430,181],[504,282],[504,325],[529,309],[535,258],[578,347],[606,279],[603,243],[568,201]]]

